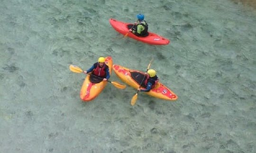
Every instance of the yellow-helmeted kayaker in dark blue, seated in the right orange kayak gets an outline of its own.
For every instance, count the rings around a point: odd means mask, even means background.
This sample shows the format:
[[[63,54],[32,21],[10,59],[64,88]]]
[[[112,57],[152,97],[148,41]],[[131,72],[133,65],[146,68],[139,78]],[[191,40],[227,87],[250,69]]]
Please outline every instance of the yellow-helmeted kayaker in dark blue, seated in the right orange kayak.
[[[156,72],[154,69],[149,69],[146,73],[146,80],[144,84],[146,85],[146,89],[140,89],[138,88],[138,91],[141,92],[149,92],[151,89],[153,89],[158,82],[158,77],[155,75]]]

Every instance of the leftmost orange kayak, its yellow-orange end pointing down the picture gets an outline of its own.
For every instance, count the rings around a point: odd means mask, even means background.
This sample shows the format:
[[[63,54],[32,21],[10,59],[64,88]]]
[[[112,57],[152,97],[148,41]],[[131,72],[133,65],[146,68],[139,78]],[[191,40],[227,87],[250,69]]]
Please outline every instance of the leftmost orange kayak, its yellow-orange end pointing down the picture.
[[[112,57],[110,56],[106,57],[105,63],[107,66],[109,66],[110,75],[111,75],[112,65],[113,65]],[[96,98],[108,83],[107,81],[92,83],[90,80],[90,77],[91,75],[87,75],[84,79],[84,82],[80,91],[80,98],[82,99],[82,101],[91,101],[94,98]]]

